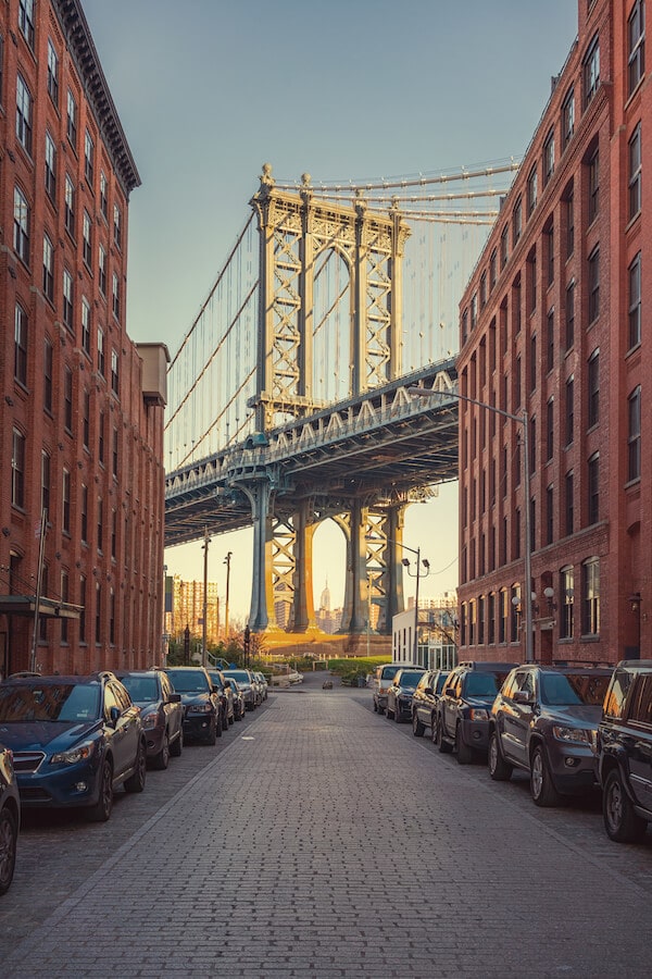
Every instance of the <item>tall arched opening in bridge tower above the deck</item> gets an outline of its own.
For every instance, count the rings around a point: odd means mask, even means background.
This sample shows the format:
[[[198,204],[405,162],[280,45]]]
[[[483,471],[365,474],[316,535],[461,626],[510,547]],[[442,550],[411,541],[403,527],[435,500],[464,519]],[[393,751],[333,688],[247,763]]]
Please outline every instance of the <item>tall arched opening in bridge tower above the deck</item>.
[[[336,248],[315,256],[312,389],[317,401],[351,395],[351,270]]]

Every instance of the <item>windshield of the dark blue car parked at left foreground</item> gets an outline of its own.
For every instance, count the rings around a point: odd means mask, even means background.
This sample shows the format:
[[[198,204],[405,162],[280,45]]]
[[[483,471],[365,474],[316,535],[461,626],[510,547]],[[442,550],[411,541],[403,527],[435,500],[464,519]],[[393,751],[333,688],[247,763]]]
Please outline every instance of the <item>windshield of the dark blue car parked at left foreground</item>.
[[[85,721],[99,717],[97,683],[12,683],[0,686],[0,723]]]

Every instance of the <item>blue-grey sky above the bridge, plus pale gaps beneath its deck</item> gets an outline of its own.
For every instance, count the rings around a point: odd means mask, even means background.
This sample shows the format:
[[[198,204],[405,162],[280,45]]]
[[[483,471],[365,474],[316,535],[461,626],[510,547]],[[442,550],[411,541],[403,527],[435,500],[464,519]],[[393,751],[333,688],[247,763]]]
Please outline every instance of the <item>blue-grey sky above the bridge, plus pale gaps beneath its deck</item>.
[[[262,164],[279,181],[373,181],[521,157],[577,34],[577,0],[83,0],[142,186],[129,201],[127,331],[172,356],[243,227]],[[457,584],[457,485],[408,508],[403,541]],[[252,534],[213,537],[230,616],[249,612]],[[343,540],[315,537],[315,602],[343,596]],[[201,543],[167,573],[202,580]],[[414,594],[414,579],[404,582]]]

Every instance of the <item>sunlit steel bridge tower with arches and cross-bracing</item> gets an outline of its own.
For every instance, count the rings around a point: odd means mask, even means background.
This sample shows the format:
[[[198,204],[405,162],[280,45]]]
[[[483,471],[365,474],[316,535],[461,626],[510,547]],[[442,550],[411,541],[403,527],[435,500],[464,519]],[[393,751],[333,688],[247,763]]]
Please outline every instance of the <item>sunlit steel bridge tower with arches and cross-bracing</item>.
[[[343,263],[347,379],[344,399],[392,381],[401,373],[402,258],[410,230],[394,201],[388,213],[367,209],[356,194],[353,206],[319,200],[303,174],[299,193],[276,187],[269,164],[251,200],[260,234],[260,301],[253,442],[289,420],[323,407],[315,396],[315,337],[328,330],[328,311],[316,322],[318,276],[329,261]],[[340,391],[342,379],[340,377]],[[283,483],[273,467],[239,481],[252,508],[253,585],[249,624],[277,628],[274,598],[291,598],[290,628],[316,628],[312,583],[312,541],[321,520],[339,516],[347,538],[342,631],[367,628],[369,593],[380,606],[378,631],[391,632],[391,617],[403,608],[400,544],[404,503],[383,506],[350,493],[328,512],[310,496],[283,512]],[[380,496],[380,492],[378,496]],[[378,546],[378,541],[381,546]]]

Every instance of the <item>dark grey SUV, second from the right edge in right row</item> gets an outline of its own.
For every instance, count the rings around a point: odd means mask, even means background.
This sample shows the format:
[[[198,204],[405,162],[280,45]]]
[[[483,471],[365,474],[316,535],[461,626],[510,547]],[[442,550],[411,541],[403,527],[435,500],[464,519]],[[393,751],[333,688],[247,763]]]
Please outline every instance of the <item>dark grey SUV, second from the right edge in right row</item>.
[[[530,777],[538,806],[598,786],[595,732],[610,669],[527,664],[512,670],[489,718],[489,773],[503,781],[514,768]]]

